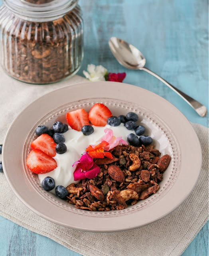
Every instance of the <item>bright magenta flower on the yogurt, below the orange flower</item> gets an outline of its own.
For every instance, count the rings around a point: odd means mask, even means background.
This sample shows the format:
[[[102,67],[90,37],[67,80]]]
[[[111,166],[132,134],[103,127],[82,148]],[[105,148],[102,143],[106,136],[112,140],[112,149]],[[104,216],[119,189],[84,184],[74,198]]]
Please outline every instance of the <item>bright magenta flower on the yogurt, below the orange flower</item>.
[[[100,172],[99,166],[93,162],[93,158],[87,152],[84,152],[80,160],[75,162],[77,164],[73,172],[74,180],[84,180],[85,178],[92,179]]]

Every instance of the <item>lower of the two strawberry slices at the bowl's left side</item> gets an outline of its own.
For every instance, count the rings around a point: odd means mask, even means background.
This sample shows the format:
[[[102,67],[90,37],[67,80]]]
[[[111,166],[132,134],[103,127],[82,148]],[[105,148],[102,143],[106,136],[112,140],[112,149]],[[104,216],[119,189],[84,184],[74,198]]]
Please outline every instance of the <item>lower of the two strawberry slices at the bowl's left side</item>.
[[[26,165],[36,174],[51,172],[57,168],[57,162],[54,158],[51,158],[39,149],[31,150],[26,159]]]

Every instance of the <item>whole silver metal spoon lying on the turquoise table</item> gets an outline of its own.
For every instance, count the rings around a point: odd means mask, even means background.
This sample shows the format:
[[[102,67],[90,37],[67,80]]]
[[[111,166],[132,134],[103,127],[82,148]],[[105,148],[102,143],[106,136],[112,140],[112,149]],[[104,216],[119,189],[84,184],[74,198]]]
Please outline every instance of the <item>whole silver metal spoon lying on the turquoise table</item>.
[[[142,53],[131,44],[128,44],[122,39],[111,37],[109,40],[109,46],[112,54],[115,56],[116,60],[118,62],[129,69],[132,70],[144,70],[151,75],[158,78],[160,81],[162,81],[164,84],[166,84],[168,87],[170,87],[174,92],[179,94],[181,98],[183,98],[200,116],[205,116],[207,114],[207,108],[203,106],[198,101],[194,100],[193,98],[189,97],[187,94],[181,92],[177,88],[175,88],[172,84],[149,70],[148,68],[145,68],[145,58],[142,55]]]

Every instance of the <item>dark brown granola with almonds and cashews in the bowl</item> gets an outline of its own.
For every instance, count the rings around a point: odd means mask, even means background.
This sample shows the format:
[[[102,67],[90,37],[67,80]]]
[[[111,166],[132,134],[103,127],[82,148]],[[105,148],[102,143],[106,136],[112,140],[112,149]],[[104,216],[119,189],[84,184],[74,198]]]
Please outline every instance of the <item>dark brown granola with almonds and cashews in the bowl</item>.
[[[160,158],[154,145],[122,145],[109,152],[113,159],[95,159],[101,169],[95,178],[67,186],[67,202],[89,211],[122,210],[156,193],[169,155]]]

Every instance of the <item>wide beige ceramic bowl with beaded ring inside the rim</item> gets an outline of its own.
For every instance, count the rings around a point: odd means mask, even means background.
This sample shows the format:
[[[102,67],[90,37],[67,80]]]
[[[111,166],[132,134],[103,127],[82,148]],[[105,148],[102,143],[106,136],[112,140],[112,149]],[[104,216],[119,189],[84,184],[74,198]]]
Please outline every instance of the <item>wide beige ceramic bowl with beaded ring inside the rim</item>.
[[[124,210],[79,210],[43,190],[37,175],[26,167],[38,125],[51,127],[56,120],[65,121],[67,112],[78,108],[89,111],[97,102],[110,108],[114,116],[136,112],[138,124],[146,127],[146,135],[153,138],[155,148],[172,157],[158,192]],[[28,208],[56,224],[92,232],[129,230],[165,217],[189,196],[201,170],[199,141],[185,116],[152,92],[116,82],[67,86],[34,101],[10,127],[2,156],[8,183]]]

